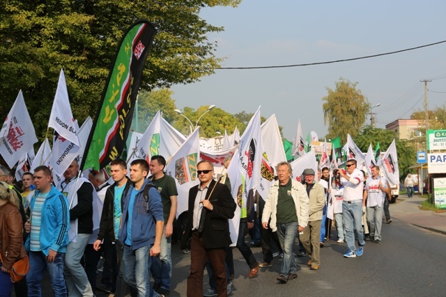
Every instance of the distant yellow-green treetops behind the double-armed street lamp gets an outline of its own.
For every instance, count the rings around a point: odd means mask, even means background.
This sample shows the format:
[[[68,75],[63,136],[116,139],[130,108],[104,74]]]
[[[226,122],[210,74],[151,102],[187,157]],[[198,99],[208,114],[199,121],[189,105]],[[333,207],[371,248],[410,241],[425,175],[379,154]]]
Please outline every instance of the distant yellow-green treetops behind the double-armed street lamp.
[[[183,115],[192,122],[192,129],[197,125],[197,120],[208,110],[209,106],[200,106],[197,111],[190,107],[183,109]],[[187,135],[190,133],[190,122],[182,116],[174,122],[174,127],[181,133]],[[236,127],[243,127],[243,123],[238,120],[231,113],[227,113],[219,107],[214,107],[208,113],[204,114],[199,120],[200,136],[205,138],[212,138],[217,136],[217,132],[224,134],[224,130],[228,134],[233,133]]]

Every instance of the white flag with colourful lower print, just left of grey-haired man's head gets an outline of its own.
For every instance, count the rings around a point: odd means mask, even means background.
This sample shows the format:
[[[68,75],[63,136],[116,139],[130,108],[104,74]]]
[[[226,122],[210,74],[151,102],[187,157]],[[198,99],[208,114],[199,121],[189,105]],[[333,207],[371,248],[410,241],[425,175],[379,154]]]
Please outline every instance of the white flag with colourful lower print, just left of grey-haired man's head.
[[[279,125],[273,114],[261,125],[261,177],[257,188],[263,200],[266,200],[268,191],[274,182],[274,173],[277,163],[286,161],[284,143],[280,136]],[[262,149],[263,148],[263,149]]]

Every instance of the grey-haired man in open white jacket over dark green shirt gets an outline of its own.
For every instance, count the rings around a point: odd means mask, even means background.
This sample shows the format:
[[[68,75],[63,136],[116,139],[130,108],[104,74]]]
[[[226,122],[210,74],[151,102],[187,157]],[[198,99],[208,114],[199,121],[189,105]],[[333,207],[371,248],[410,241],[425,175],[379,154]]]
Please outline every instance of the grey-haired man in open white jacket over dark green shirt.
[[[297,264],[293,256],[293,243],[297,232],[307,227],[309,199],[305,186],[291,179],[291,166],[288,162],[277,164],[277,177],[272,184],[262,215],[262,226],[272,232],[277,231],[284,259],[277,280],[286,284],[298,277]]]

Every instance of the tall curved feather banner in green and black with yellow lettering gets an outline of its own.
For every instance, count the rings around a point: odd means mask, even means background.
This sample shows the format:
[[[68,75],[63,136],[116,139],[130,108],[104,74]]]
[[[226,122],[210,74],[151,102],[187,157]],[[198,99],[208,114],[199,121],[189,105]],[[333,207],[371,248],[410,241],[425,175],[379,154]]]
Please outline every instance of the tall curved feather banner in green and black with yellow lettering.
[[[135,22],[124,33],[105,82],[80,168],[100,170],[122,154],[155,33],[155,27],[144,20]]]

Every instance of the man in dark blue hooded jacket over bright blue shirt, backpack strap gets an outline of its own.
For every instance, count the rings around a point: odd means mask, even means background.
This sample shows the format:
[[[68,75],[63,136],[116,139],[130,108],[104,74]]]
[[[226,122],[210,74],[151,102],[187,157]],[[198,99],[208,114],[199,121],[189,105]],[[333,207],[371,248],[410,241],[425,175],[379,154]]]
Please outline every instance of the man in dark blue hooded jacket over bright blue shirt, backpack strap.
[[[160,255],[164,218],[161,196],[148,175],[148,163],[137,159],[130,164],[132,185],[123,196],[121,229],[118,239],[123,243],[123,275],[139,297],[160,296],[150,286],[151,257]],[[144,188],[148,187],[148,197]]]

